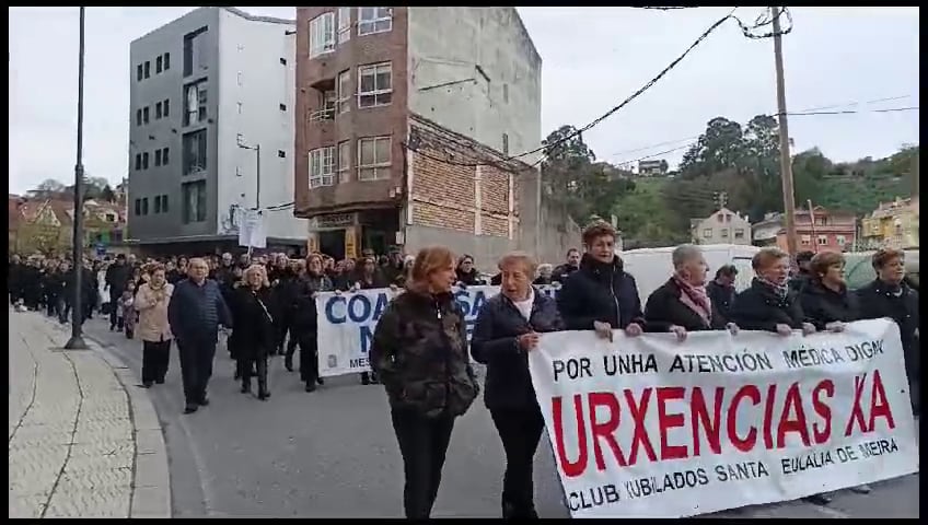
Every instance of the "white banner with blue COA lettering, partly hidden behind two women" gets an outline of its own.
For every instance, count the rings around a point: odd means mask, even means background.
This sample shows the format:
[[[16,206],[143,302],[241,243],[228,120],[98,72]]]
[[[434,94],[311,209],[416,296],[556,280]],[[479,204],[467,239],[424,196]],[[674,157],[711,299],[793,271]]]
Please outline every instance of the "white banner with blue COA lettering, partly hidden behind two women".
[[[555,287],[538,287],[554,294]],[[357,292],[323,292],[316,296],[318,311],[320,376],[355,374],[370,371],[368,352],[376,322],[394,296],[388,288]],[[467,287],[453,291],[464,310],[467,338],[477,313],[487,299],[499,293],[499,287]]]

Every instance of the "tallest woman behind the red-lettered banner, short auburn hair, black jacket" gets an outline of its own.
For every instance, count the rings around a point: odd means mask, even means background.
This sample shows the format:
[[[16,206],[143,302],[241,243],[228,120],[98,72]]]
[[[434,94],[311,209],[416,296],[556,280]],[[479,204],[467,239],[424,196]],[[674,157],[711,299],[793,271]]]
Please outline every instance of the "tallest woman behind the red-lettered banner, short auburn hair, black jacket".
[[[564,281],[557,293],[566,329],[595,330],[610,340],[614,329],[625,330],[629,337],[643,331],[638,285],[615,254],[615,228],[603,221],[583,231],[587,253],[580,259],[580,269]]]

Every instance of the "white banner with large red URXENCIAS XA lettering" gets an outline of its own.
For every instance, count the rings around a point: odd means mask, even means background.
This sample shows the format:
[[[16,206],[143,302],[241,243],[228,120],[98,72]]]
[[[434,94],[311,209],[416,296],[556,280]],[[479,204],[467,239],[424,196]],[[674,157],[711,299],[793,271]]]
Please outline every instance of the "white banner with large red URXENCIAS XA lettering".
[[[683,517],[918,471],[897,326],[614,342],[542,336],[529,364],[573,517]]]

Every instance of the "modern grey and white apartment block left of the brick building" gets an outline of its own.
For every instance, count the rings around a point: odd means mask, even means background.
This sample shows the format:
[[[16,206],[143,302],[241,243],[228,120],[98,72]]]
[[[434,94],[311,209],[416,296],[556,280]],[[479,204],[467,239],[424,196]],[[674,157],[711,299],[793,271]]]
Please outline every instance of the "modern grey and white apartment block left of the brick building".
[[[236,210],[260,208],[268,247],[304,246],[305,220],[292,212],[294,28],[207,7],[131,43],[128,215],[139,245],[231,249]]]

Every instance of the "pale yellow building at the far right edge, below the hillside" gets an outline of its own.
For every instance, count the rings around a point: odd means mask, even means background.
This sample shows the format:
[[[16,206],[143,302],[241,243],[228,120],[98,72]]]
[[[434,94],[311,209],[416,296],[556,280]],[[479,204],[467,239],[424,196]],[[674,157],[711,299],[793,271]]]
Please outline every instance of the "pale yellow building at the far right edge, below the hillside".
[[[860,221],[862,248],[917,248],[918,209],[918,197],[880,202],[869,217]]]

